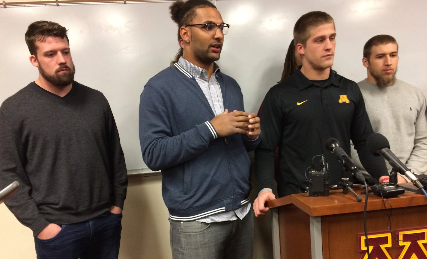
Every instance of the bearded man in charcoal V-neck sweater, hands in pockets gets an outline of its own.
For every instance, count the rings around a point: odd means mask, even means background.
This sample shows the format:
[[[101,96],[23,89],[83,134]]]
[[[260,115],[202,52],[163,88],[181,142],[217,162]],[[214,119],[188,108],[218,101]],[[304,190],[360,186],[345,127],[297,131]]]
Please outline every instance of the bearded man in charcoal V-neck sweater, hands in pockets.
[[[127,171],[111,109],[73,80],[65,27],[37,21],[25,40],[39,77],[0,108],[0,183],[20,183],[6,206],[38,259],[117,259]]]

